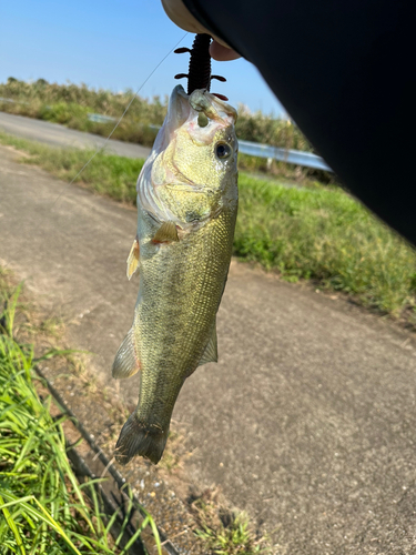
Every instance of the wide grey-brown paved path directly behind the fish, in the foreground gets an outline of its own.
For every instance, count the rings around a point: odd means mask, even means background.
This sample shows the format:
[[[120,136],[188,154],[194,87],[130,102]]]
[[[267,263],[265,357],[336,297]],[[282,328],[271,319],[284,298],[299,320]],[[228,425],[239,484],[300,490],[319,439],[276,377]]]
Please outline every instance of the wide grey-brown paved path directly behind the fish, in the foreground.
[[[0,259],[64,315],[110,380],[138,281],[133,210],[0,149]],[[0,260],[0,262],[1,262]],[[199,369],[174,418],[187,472],[220,484],[291,555],[416,553],[416,345],[379,319],[233,263],[220,363]],[[136,376],[122,394],[136,402]]]

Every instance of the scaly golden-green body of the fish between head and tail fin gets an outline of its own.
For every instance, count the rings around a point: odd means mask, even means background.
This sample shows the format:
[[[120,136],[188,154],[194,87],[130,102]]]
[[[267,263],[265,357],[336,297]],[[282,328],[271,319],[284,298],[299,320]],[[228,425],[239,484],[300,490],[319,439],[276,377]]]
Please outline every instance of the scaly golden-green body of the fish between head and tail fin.
[[[232,214],[223,213],[174,245],[173,255],[166,252],[141,265],[142,295],[153,299],[151,310],[141,303],[136,311],[139,333],[149,337],[141,362],[144,369],[159,369],[161,380],[174,392],[171,398],[176,398],[183,376],[195,370],[210,339],[229,270],[232,243],[226,238],[232,235],[234,221]],[[160,339],[158,349],[152,337]],[[153,386],[151,372],[142,372],[142,384],[143,390]],[[143,397],[136,414],[139,420],[152,418],[161,425],[171,416],[166,407],[158,414],[151,395]]]

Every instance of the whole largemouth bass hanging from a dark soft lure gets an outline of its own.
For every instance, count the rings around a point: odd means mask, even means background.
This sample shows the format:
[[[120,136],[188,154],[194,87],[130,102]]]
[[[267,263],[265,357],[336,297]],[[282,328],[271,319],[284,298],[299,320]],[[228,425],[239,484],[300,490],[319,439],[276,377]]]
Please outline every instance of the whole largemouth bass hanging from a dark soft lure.
[[[115,447],[158,463],[173,406],[199,365],[216,362],[215,319],[237,213],[236,111],[205,90],[171,95],[138,180],[138,235],[128,276],[140,272],[133,325],[113,377],[141,371],[139,404]]]

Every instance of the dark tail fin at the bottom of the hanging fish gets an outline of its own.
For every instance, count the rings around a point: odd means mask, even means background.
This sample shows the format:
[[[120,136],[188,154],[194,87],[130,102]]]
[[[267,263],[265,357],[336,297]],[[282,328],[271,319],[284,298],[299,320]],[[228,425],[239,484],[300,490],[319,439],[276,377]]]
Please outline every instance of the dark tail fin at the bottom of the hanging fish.
[[[115,460],[128,464],[135,455],[144,456],[158,464],[168,440],[168,430],[152,424],[144,424],[133,413],[121,430],[115,445]]]

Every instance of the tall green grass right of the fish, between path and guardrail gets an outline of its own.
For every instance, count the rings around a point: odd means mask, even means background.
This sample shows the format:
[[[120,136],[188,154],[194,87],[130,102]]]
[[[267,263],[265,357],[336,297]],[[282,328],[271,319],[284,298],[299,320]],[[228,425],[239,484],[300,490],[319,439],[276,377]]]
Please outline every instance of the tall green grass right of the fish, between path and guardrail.
[[[242,175],[234,254],[288,281],[314,279],[416,324],[416,252],[341,189]]]

